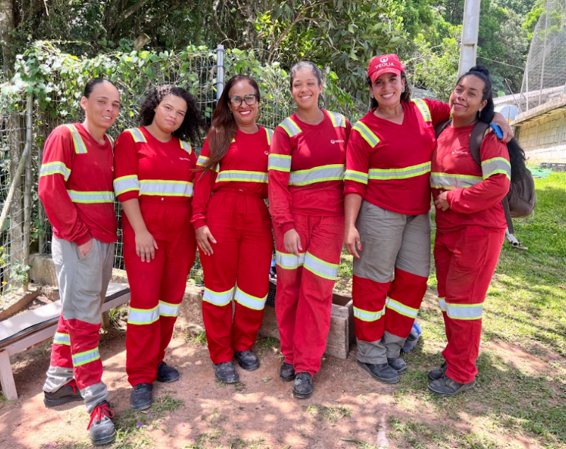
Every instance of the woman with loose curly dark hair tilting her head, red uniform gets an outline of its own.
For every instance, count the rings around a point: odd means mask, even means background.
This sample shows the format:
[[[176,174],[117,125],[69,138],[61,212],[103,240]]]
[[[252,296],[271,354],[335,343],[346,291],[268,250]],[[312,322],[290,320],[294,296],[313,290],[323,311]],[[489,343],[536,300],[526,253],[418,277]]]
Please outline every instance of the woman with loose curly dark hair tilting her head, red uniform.
[[[114,190],[124,209],[124,262],[132,294],[126,332],[126,371],[134,410],[151,407],[154,380],[180,373],[163,357],[173,334],[192,262],[190,225],[194,142],[204,127],[195,99],[183,88],[150,91],[141,127],[126,129],[115,148]]]

